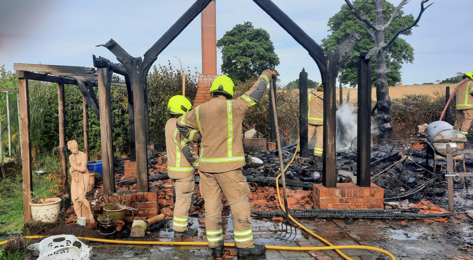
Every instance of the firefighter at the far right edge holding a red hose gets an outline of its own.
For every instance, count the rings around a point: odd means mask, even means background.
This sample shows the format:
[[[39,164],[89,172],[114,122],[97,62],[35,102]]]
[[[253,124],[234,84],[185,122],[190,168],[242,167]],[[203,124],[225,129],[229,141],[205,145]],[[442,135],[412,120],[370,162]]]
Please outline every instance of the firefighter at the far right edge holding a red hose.
[[[463,75],[463,78],[467,80],[462,81],[462,85],[455,93],[455,99],[457,100],[455,116],[457,121],[454,128],[467,134],[473,121],[473,73],[467,72]]]

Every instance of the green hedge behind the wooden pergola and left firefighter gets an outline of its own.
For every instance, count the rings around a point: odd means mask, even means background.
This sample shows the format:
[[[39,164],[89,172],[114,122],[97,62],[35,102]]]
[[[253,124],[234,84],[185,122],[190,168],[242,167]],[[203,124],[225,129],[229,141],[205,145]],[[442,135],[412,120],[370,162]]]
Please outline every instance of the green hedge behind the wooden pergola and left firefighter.
[[[164,141],[164,127],[168,120],[166,107],[169,97],[182,94],[182,74],[186,74],[186,96],[194,100],[197,92],[198,74],[189,68],[176,68],[171,63],[153,67],[148,74],[149,137],[150,143]],[[52,154],[59,146],[58,90],[57,84],[29,81],[30,134],[32,153]],[[0,88],[18,89],[18,79],[12,71],[0,66]],[[98,95],[98,89],[95,88]],[[125,87],[111,87],[112,130],[114,154],[129,153],[128,95]],[[10,124],[12,134],[12,154],[19,154],[18,110],[16,94],[10,93]],[[75,85],[65,85],[66,139],[75,139],[83,149],[82,94]],[[6,124],[6,98],[0,93],[0,112],[3,153],[8,152],[8,131]],[[100,151],[100,121],[92,109],[89,116],[89,148]],[[92,158],[94,155],[92,154]]]

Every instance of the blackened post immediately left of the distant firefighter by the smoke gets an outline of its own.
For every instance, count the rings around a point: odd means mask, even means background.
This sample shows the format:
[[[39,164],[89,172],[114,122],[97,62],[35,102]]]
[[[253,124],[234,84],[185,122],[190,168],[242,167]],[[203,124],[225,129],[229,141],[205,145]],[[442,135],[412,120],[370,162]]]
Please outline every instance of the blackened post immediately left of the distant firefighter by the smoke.
[[[301,143],[301,151],[299,156],[307,158],[309,156],[308,151],[308,117],[307,117],[307,77],[308,73],[303,68],[299,73],[299,139]]]

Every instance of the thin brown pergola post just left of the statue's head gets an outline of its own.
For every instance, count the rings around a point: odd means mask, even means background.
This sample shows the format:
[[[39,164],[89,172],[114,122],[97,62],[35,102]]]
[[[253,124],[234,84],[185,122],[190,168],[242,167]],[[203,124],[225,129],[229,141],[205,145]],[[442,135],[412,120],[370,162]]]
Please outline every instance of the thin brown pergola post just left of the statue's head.
[[[68,185],[68,163],[66,161],[66,98],[64,96],[64,83],[58,83],[58,111],[59,111],[59,154],[61,155],[61,178],[63,185]]]

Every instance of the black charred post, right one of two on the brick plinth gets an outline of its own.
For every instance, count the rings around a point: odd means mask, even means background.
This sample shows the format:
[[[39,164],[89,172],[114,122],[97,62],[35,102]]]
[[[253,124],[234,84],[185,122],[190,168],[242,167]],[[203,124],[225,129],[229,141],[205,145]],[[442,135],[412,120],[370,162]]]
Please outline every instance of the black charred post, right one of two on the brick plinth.
[[[358,132],[356,163],[356,184],[360,187],[371,186],[371,59],[366,59],[366,52],[358,60]]]

